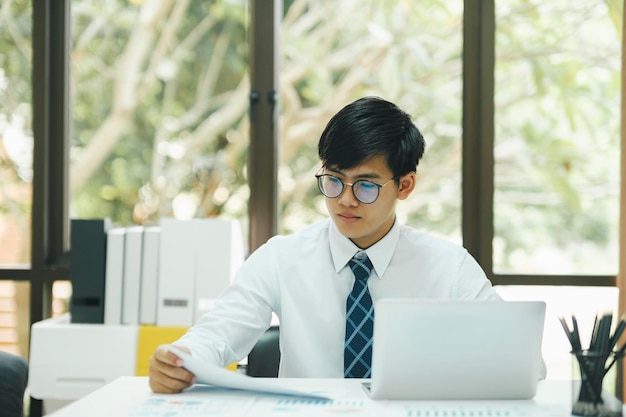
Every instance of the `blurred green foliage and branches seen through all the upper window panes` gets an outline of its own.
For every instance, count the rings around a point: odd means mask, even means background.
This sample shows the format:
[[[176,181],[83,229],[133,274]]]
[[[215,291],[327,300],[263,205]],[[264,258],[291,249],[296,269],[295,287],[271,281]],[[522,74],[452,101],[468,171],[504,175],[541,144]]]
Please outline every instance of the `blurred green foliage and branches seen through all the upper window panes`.
[[[28,150],[30,3],[5,3],[0,139],[7,148],[7,126],[18,126]],[[71,6],[70,215],[121,225],[245,219],[247,2]],[[621,7],[496,1],[496,96],[485,99],[496,106],[494,256],[504,269],[534,246],[617,245]],[[280,232],[324,217],[313,178],[319,134],[340,107],[375,94],[409,111],[428,144],[401,220],[461,240],[462,14],[462,2],[447,0],[285,3]],[[611,28],[610,38],[577,48],[578,31],[593,41],[594,27]],[[29,162],[0,153],[2,188],[28,185]],[[29,200],[1,198],[3,215],[28,221]]]

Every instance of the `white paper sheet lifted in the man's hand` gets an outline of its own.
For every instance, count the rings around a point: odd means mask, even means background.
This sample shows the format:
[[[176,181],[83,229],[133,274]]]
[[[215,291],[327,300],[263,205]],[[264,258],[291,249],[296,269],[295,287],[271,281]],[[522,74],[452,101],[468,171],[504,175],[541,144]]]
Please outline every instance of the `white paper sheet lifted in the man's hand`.
[[[213,385],[216,387],[256,391],[266,394],[292,395],[298,397],[311,397],[319,399],[327,399],[326,396],[290,389],[281,386],[277,380],[268,381],[267,379],[258,379],[249,377],[237,372],[232,372],[219,366],[204,363],[198,358],[169,346],[168,350],[183,360],[183,367],[196,376],[196,382],[199,384]]]

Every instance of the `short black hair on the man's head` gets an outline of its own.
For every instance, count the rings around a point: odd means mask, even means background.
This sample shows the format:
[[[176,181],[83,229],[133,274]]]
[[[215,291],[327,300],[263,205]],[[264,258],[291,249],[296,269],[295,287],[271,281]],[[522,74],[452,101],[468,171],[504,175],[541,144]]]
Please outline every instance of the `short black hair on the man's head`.
[[[380,97],[363,97],[335,114],[322,132],[318,154],[336,169],[384,156],[394,177],[415,171],[426,144],[411,116]]]

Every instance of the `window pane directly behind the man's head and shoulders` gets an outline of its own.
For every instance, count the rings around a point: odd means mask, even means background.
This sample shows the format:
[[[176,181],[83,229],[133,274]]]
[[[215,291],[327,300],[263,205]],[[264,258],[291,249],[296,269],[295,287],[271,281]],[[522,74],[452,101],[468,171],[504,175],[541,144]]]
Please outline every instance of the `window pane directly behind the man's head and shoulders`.
[[[345,17],[350,16],[350,24]],[[326,217],[313,174],[330,117],[365,95],[406,110],[424,135],[403,223],[461,242],[463,4],[302,1],[281,26],[280,231]]]

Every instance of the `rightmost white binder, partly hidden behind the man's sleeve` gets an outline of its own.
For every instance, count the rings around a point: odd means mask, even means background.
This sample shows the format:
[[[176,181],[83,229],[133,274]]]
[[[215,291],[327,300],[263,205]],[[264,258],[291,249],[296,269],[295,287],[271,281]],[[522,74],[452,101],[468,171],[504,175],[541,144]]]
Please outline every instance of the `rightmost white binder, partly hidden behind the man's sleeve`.
[[[244,261],[241,226],[232,219],[195,219],[194,322],[213,309],[219,295],[232,282]]]

